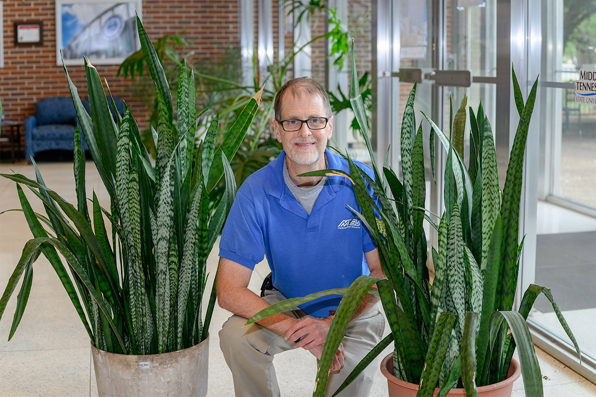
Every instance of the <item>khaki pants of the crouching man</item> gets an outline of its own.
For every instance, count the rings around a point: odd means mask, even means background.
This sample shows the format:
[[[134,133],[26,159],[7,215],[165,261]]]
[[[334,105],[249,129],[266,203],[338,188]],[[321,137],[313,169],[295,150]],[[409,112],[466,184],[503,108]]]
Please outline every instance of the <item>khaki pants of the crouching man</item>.
[[[278,290],[267,290],[263,297],[269,304],[285,298]],[[290,310],[285,314],[294,318],[307,317],[302,310]],[[312,317],[312,316],[309,316]],[[284,340],[259,324],[244,326],[246,318],[232,315],[219,331],[219,345],[232,371],[234,390],[237,396],[280,396],[280,387],[275,376],[273,356],[293,350],[293,343]],[[342,343],[346,360],[342,369],[329,374],[325,395],[332,395],[342,385],[354,367],[367,355],[383,337],[385,320],[377,305],[361,315],[346,330]],[[377,370],[373,361],[364,371],[340,393],[340,396],[368,396]],[[313,379],[313,389],[314,389]]]

